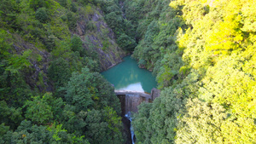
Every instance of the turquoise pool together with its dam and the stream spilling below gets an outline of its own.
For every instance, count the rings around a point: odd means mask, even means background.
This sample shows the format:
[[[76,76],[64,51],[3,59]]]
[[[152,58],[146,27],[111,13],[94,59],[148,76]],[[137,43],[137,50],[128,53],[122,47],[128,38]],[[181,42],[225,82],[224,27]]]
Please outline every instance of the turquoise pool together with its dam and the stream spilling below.
[[[134,143],[135,135],[132,130],[132,114],[138,112],[138,106],[144,102],[152,102],[160,95],[152,72],[139,68],[137,61],[126,56],[117,66],[102,72],[102,76],[112,84],[115,94],[121,104],[121,116],[124,133],[127,136],[125,144]]]

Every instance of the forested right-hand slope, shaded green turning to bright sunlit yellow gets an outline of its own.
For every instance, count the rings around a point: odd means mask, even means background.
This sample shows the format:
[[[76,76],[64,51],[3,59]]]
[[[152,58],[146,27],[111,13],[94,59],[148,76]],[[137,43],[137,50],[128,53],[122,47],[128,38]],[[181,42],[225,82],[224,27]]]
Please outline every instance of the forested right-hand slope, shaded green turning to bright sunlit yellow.
[[[139,39],[133,57],[161,89],[135,115],[137,142],[255,143],[253,0],[125,3]]]

